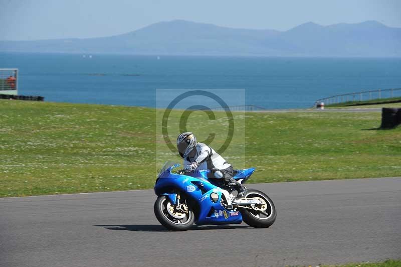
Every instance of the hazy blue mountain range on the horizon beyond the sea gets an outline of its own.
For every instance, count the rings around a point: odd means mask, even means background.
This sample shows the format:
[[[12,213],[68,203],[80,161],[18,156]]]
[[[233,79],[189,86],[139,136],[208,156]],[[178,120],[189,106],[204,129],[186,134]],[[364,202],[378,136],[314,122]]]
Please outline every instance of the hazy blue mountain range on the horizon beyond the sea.
[[[401,57],[401,29],[375,21],[288,31],[248,30],[188,21],[152,24],[127,34],[42,41],[0,41],[1,52],[121,53],[305,57]]]

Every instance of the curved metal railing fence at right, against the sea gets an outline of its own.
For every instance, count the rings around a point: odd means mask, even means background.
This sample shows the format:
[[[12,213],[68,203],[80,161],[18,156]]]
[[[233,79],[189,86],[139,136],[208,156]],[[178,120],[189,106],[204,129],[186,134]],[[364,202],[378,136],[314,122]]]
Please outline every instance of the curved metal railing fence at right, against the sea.
[[[356,102],[356,101],[366,101],[372,99],[382,99],[382,98],[392,98],[401,97],[401,88],[393,89],[378,89],[370,91],[362,91],[356,93],[338,94],[329,97],[324,97],[317,99],[315,101],[315,106],[321,102],[325,105],[346,103],[346,102]]]

